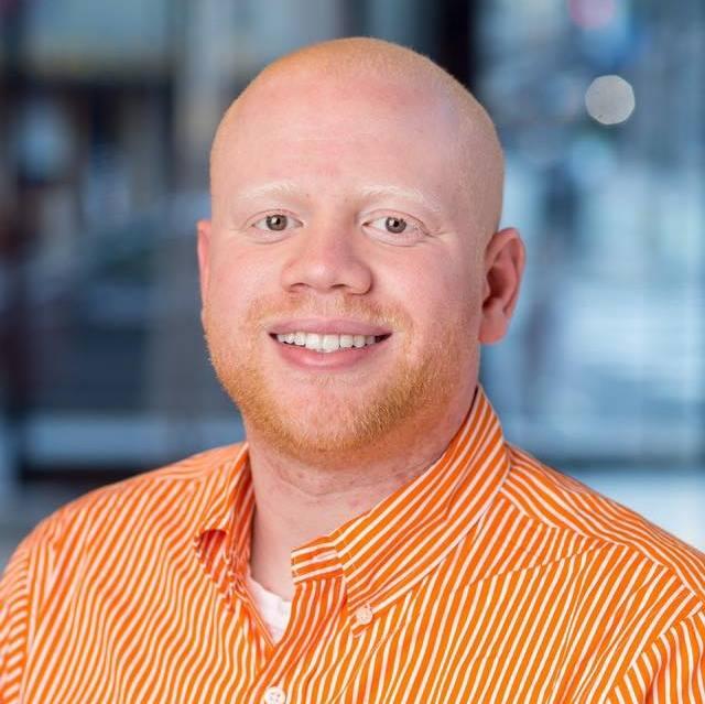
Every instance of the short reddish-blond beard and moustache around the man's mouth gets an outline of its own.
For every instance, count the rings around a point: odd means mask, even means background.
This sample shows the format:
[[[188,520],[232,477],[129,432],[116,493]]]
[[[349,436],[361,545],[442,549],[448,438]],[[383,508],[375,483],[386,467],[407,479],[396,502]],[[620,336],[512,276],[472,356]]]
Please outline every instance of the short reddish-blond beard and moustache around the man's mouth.
[[[379,350],[376,360],[360,362],[359,369],[302,371],[269,349],[272,343],[261,322],[268,318],[261,310],[248,315],[259,323],[234,329],[205,306],[210,361],[240,410],[248,437],[256,435],[279,454],[310,465],[349,466],[351,458],[380,459],[386,452],[411,451],[414,438],[427,436],[457,402],[471,376],[468,361],[476,361],[467,316],[446,317],[414,356],[414,326],[405,313],[380,316],[348,307],[326,311],[326,316],[387,324],[394,331],[388,349]],[[307,316],[304,311],[283,315],[281,303],[271,311],[270,319]],[[241,331],[258,332],[246,336]]]

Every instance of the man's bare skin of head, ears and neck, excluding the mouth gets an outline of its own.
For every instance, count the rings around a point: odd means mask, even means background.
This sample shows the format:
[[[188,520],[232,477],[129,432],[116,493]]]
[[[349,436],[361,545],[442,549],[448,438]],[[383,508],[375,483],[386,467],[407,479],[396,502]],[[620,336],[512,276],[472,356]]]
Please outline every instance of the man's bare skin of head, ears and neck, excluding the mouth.
[[[292,598],[291,551],[413,480],[463,422],[524,267],[519,232],[497,231],[502,180],[479,104],[380,40],[279,59],[226,112],[198,223],[202,317],[250,444],[251,568],[270,591]],[[318,316],[392,336],[373,361],[294,369],[267,329]]]

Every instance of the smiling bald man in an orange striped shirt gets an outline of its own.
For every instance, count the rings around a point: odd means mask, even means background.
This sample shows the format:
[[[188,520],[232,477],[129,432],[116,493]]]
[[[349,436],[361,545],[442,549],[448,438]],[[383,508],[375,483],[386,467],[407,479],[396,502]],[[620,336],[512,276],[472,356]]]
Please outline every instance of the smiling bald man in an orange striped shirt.
[[[203,323],[246,442],[91,492],[2,582],[2,702],[705,702],[704,556],[508,444],[524,249],[435,64],[304,48],[230,107]]]

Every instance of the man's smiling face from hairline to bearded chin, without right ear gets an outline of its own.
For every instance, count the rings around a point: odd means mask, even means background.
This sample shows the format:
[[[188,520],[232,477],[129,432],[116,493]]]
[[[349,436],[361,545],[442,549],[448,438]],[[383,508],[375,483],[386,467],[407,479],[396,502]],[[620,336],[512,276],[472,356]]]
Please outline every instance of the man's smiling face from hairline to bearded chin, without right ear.
[[[469,402],[481,252],[456,129],[443,102],[375,77],[292,75],[247,96],[199,260],[210,356],[248,436],[304,462],[379,456]],[[391,335],[332,354],[272,335],[313,317]]]

